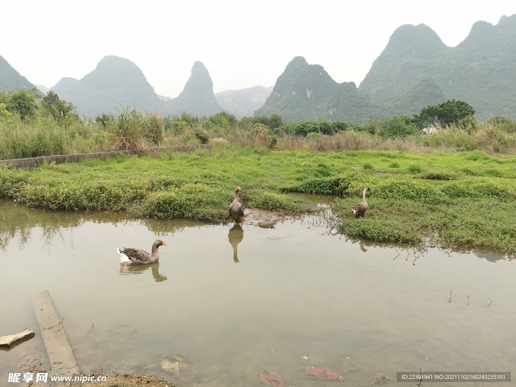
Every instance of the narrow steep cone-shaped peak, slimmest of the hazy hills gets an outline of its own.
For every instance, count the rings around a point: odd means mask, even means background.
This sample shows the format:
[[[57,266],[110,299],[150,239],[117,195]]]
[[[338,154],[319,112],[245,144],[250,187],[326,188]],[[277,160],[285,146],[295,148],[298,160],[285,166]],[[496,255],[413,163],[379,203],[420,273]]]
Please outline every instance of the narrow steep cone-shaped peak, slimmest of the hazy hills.
[[[196,116],[209,116],[222,110],[213,94],[213,81],[203,63],[193,63],[191,75],[181,94],[163,103],[165,115],[181,115],[183,111]]]

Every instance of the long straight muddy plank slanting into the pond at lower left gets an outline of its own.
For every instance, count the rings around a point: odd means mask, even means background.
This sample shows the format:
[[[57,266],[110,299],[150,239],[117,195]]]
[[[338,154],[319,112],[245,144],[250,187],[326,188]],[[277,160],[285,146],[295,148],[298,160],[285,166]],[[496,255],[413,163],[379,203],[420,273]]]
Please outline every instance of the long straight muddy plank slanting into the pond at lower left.
[[[60,374],[64,376],[79,375],[80,368],[77,365],[72,347],[70,347],[50,293],[48,291],[33,293],[30,295],[30,300],[38,318],[41,337],[43,343],[45,343],[51,367],[53,369],[58,368]]]

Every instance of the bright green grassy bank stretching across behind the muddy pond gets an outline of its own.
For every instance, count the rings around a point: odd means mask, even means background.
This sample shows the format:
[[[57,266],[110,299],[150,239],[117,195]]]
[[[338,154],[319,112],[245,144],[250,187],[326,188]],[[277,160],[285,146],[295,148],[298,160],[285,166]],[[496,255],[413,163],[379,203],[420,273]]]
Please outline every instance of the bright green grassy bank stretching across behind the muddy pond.
[[[189,155],[118,157],[0,170],[0,195],[31,207],[126,210],[141,217],[220,221],[234,187],[250,207],[306,211],[287,191],[338,195],[340,231],[352,237],[428,240],[516,252],[516,157],[483,152],[271,151],[216,142]],[[369,186],[369,210],[350,208]]]

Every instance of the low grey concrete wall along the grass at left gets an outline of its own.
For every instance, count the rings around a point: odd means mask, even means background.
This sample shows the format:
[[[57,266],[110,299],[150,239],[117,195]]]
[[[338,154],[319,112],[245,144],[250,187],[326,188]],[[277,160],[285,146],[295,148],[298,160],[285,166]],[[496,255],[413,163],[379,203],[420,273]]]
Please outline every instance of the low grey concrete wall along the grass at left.
[[[181,147],[163,147],[153,148],[152,153],[159,152],[186,152],[192,153],[198,148],[211,149],[211,144],[205,145],[185,145]],[[39,167],[42,164],[65,164],[65,163],[78,163],[87,159],[97,158],[103,160],[104,158],[116,157],[120,154],[124,155],[136,155],[135,151],[117,151],[117,152],[97,152],[97,153],[82,153],[82,154],[65,154],[65,155],[54,155],[54,156],[41,156],[41,157],[29,157],[29,158],[15,158],[12,160],[0,160],[0,167],[5,165],[11,168],[23,169],[29,171],[33,168]]]

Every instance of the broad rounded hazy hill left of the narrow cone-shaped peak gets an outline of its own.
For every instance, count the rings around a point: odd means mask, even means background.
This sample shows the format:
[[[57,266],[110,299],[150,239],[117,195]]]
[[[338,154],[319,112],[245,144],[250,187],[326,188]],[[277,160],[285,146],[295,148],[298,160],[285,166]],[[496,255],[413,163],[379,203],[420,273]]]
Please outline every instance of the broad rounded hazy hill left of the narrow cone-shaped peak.
[[[61,78],[52,89],[74,104],[79,115],[117,112],[126,106],[155,110],[156,106],[154,89],[140,68],[118,56],[105,56],[79,80]]]

